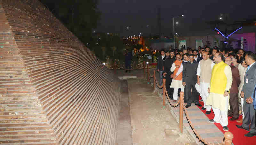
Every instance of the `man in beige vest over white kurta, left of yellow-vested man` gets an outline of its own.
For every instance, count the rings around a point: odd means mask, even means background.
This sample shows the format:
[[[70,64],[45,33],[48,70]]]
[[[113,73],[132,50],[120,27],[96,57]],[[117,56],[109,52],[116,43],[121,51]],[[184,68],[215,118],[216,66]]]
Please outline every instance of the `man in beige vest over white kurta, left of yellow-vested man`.
[[[206,109],[206,114],[210,114],[212,106],[206,105],[206,100],[209,97],[208,87],[211,81],[212,68],[215,64],[209,58],[210,57],[209,52],[204,52],[202,56],[203,56],[203,59],[200,60],[197,67],[197,72],[196,72],[197,84],[199,85],[199,88],[196,88],[196,89],[204,102],[204,107],[202,108],[202,110]]]

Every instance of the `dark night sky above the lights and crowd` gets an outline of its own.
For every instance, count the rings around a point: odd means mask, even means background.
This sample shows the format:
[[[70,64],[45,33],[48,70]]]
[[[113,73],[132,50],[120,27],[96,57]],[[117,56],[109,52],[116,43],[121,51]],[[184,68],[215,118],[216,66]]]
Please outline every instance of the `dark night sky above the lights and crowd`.
[[[172,17],[182,14],[184,18],[175,19],[180,35],[211,31],[205,22],[218,20],[220,13],[229,13],[232,21],[256,18],[255,0],[99,0],[98,7],[102,17],[97,31],[120,35],[158,34],[158,7],[164,35],[172,35]]]

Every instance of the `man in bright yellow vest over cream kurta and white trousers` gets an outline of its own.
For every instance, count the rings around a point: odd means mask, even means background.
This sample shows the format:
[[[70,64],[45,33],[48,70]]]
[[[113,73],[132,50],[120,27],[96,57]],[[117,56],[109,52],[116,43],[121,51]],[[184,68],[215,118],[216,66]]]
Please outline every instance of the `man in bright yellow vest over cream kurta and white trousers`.
[[[216,64],[212,68],[206,104],[212,105],[214,112],[214,118],[209,122],[220,123],[223,130],[228,131],[229,89],[232,85],[232,72],[230,66],[223,62],[223,58],[222,53],[216,53],[213,57]]]

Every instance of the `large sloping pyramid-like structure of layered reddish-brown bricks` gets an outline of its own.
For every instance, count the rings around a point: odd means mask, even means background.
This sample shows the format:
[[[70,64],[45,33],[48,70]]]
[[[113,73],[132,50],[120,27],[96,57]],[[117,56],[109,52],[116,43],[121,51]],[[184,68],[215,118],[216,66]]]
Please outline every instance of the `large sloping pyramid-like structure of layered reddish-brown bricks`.
[[[0,17],[0,144],[116,144],[117,77],[39,1]]]

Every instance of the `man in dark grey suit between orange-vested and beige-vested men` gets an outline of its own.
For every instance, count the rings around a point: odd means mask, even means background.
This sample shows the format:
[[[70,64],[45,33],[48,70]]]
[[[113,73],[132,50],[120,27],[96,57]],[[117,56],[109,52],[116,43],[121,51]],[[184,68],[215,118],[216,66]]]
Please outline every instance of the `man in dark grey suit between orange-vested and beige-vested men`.
[[[182,85],[185,86],[184,102],[187,102],[186,108],[191,106],[191,103],[195,103],[199,107],[198,92],[196,91],[195,84],[197,82],[196,70],[198,63],[194,61],[194,55],[188,55],[189,61],[183,64],[182,71]],[[192,92],[191,92],[192,90]]]

